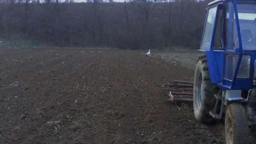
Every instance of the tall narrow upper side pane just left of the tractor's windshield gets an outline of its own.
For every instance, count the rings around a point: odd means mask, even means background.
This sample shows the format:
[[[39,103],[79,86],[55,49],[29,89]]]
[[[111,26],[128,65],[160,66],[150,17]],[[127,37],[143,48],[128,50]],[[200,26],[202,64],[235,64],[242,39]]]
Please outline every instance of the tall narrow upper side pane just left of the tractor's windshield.
[[[226,11],[225,11],[225,26],[226,26],[226,43],[225,47],[226,50],[235,50],[239,48],[235,45],[238,41],[238,32],[236,26],[236,17],[234,16],[234,6],[232,2],[228,2],[226,4]]]

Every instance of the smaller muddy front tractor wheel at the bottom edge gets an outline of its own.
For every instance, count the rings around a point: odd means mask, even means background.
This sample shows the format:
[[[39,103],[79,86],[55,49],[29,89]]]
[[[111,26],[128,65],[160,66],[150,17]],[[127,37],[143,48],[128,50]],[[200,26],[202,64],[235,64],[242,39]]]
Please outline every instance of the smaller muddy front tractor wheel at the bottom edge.
[[[249,130],[247,115],[241,104],[227,106],[225,115],[225,134],[227,144],[248,144]]]

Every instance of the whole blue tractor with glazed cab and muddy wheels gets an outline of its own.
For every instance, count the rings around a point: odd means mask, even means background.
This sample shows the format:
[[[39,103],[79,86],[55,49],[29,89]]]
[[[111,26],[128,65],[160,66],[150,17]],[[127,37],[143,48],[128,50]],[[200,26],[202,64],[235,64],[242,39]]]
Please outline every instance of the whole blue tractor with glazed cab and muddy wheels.
[[[256,0],[215,0],[206,10],[194,116],[214,124],[225,114],[226,143],[246,144],[256,124]]]

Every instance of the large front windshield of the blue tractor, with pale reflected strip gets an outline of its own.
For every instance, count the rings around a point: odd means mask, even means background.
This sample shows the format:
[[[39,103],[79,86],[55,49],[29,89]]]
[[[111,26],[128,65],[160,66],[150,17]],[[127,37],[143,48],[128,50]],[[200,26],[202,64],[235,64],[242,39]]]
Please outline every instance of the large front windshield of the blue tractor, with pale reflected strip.
[[[237,10],[243,50],[256,50],[256,5],[237,4]]]

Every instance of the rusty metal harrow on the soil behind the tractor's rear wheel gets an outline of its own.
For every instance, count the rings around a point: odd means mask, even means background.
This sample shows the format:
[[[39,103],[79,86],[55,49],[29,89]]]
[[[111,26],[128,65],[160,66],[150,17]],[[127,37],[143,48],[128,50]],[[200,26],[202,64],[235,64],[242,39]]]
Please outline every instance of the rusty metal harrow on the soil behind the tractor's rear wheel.
[[[163,85],[163,94],[168,94],[167,101],[193,102],[193,82],[174,80],[173,84]]]

